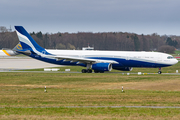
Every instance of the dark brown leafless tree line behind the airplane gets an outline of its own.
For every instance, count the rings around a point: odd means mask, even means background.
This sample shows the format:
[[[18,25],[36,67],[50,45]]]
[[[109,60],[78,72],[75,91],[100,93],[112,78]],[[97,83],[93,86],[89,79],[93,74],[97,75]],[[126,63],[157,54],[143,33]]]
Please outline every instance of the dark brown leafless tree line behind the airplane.
[[[127,32],[78,32],[78,33],[45,33],[32,32],[32,38],[46,49],[76,49],[81,50],[88,44],[95,50],[115,51],[161,51],[171,53],[180,48],[180,36],[138,35]],[[0,27],[0,48],[12,49],[18,43],[14,32]],[[172,50],[165,49],[170,47]]]

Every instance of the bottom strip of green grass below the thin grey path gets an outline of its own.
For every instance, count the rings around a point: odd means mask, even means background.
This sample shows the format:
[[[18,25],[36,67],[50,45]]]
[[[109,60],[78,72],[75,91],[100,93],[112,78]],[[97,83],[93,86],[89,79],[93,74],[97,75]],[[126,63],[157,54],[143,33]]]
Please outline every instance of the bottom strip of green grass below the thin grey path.
[[[178,109],[154,108],[5,108],[1,119],[173,119]],[[8,116],[8,117],[7,117]]]

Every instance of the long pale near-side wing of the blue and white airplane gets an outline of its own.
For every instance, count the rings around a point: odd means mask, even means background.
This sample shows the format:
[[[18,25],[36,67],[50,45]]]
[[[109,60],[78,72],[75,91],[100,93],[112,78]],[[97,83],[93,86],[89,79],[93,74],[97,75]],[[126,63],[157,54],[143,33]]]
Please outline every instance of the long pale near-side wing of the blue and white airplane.
[[[51,57],[56,58],[57,61],[70,61],[70,62],[78,62],[78,63],[111,63],[118,64],[118,62],[114,60],[101,60],[101,59],[89,59],[84,57],[70,57],[70,56],[51,56],[51,55],[41,55],[42,57]]]

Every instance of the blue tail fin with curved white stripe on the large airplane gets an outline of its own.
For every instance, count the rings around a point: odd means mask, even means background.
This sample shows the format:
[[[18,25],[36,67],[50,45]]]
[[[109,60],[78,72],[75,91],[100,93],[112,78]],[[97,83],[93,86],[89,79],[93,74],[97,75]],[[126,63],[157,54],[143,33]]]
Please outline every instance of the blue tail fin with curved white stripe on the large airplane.
[[[23,50],[30,50],[35,53],[45,51],[45,49],[39,46],[22,26],[15,26],[15,29]]]

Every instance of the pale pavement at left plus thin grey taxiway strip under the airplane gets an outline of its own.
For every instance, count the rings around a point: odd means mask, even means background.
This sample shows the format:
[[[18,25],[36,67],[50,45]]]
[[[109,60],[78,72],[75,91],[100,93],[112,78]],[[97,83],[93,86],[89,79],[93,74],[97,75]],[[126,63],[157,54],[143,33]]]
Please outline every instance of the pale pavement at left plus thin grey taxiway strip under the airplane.
[[[81,72],[66,72],[66,71],[18,71],[27,69],[38,69],[38,68],[51,68],[51,67],[62,67],[62,65],[55,65],[46,62],[42,62],[30,57],[0,57],[0,72],[36,72],[36,73],[81,73]],[[105,72],[109,74],[123,74],[127,75],[128,72]],[[137,74],[137,73],[129,73]],[[147,74],[158,74],[158,73],[142,73]],[[180,73],[162,73],[163,75],[180,75]]]

